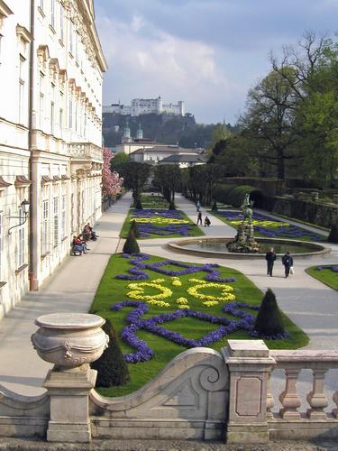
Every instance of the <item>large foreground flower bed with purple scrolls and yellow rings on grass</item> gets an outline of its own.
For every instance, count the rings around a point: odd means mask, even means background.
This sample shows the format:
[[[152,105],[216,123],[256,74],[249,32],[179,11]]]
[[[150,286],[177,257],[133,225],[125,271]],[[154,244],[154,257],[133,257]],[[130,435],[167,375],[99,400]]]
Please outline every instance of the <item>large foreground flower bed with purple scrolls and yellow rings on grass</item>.
[[[226,339],[251,338],[262,294],[241,273],[217,264],[164,260],[140,253],[114,255],[91,308],[110,318],[130,364],[128,386],[101,392],[119,396],[137,390],[188,347],[220,350]],[[273,347],[306,345],[303,332],[283,317],[289,338]],[[280,345],[279,345],[280,343]]]

